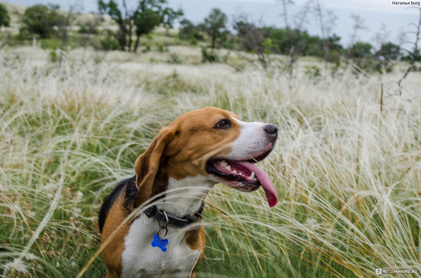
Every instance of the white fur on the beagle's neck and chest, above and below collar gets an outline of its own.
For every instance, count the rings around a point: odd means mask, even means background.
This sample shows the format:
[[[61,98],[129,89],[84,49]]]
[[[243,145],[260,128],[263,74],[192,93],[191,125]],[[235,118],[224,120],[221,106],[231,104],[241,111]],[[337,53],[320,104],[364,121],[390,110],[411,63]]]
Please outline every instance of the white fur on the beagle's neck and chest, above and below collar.
[[[190,214],[200,207],[202,199],[214,184],[200,175],[180,181],[170,178],[165,202],[157,207],[178,216]],[[147,218],[144,213],[133,221],[125,237],[123,278],[189,277],[201,250],[192,250],[186,244],[186,229],[168,226],[168,235],[165,237],[169,241],[168,249],[162,252],[159,247],[151,246],[157,229],[156,220]]]

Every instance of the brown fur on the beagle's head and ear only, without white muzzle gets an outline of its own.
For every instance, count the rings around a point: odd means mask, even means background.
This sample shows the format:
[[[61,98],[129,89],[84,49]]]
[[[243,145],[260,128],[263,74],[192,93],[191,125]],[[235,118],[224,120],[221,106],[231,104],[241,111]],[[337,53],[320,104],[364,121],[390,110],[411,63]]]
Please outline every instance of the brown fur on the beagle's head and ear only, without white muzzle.
[[[238,119],[228,111],[207,107],[184,113],[161,129],[148,149],[136,159],[134,168],[139,194],[134,207],[165,191],[166,188],[154,189],[157,173],[164,168],[166,174],[176,180],[198,174],[206,176],[208,159],[231,152],[229,143],[240,134],[235,121],[228,130],[213,129],[218,121],[231,117]]]

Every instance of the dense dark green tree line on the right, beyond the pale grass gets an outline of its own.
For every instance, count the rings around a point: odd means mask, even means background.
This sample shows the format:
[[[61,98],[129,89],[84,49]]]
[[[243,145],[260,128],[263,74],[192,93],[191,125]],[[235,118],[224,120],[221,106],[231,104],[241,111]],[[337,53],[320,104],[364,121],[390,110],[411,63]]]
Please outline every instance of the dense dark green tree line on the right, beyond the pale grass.
[[[234,32],[230,33],[226,22],[226,15],[218,9],[213,9],[204,22],[199,24],[193,24],[184,18],[180,22],[179,37],[197,44],[198,41],[205,41],[207,34],[211,38],[210,47],[226,47],[255,53],[264,66],[268,63],[265,56],[269,54],[288,56],[294,51],[298,51],[298,55],[301,56],[324,58],[337,66],[343,63],[342,60],[349,58],[356,65],[360,65],[362,70],[390,71],[393,61],[411,60],[411,55],[393,42],[382,42],[380,47],[375,49],[368,42],[354,41],[345,48],[341,45],[341,37],[337,34],[322,38],[310,35],[299,28],[265,26],[250,21],[247,16],[241,14],[234,18],[232,25]],[[415,61],[421,61],[419,50],[415,55]]]

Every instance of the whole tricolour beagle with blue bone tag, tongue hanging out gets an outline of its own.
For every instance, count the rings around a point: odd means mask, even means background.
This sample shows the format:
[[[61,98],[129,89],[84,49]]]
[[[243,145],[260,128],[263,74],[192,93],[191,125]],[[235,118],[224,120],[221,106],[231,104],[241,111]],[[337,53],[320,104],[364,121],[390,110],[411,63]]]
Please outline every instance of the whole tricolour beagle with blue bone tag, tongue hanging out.
[[[161,129],[136,159],[136,175],[117,184],[101,206],[107,278],[195,277],[205,251],[203,200],[215,184],[244,192],[262,186],[269,206],[276,205],[272,182],[253,163],[269,155],[277,131],[214,107],[184,113]]]

